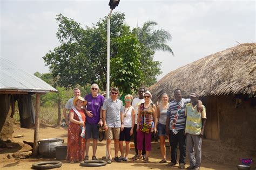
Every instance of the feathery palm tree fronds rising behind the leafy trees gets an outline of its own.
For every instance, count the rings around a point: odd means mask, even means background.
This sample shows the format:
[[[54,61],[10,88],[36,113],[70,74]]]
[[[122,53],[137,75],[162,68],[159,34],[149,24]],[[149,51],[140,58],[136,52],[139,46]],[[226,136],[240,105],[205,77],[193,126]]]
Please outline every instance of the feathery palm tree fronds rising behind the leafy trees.
[[[149,20],[143,24],[142,28],[137,27],[139,41],[153,51],[167,51],[174,55],[172,48],[166,44],[166,41],[172,39],[171,33],[163,29],[153,30],[156,25],[157,22]]]

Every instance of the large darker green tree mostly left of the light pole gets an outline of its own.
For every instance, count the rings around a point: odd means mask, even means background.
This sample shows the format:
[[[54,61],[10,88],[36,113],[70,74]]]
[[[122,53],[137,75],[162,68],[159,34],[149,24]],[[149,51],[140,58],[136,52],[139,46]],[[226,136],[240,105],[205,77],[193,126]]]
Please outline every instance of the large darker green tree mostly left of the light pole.
[[[57,15],[60,46],[43,59],[60,86],[85,86],[98,83],[106,89],[106,18],[85,29],[73,19]],[[117,54],[116,38],[120,36],[124,22],[123,13],[113,13],[111,19],[111,54]]]

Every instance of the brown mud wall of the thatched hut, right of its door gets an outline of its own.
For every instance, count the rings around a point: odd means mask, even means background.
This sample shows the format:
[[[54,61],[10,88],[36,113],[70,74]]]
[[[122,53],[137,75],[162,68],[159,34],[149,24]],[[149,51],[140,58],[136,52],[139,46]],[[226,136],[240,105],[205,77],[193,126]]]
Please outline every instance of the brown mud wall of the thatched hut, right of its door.
[[[245,96],[242,96],[244,99]],[[251,98],[235,108],[233,95],[218,97],[220,141],[256,152],[256,107]]]

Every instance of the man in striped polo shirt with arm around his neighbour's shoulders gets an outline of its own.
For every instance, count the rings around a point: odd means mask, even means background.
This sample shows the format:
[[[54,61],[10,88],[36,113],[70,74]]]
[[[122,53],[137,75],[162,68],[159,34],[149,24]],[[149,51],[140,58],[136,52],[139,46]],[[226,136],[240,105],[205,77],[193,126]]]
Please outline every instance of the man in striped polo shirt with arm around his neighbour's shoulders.
[[[185,143],[185,105],[190,103],[190,98],[182,98],[181,89],[174,90],[174,101],[170,102],[166,117],[166,134],[169,134],[171,145],[171,162],[167,166],[177,164],[177,145],[179,144],[179,168],[185,168],[186,143]],[[202,110],[202,102],[198,100],[198,110]]]

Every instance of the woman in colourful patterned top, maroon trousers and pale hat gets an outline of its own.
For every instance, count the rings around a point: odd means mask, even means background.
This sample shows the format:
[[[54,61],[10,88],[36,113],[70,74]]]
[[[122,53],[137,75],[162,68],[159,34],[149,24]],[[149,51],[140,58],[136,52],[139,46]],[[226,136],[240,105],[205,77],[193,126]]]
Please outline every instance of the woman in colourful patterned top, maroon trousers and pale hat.
[[[151,151],[151,133],[157,132],[156,125],[157,124],[157,113],[156,113],[156,105],[151,103],[151,93],[150,91],[146,91],[144,93],[145,103],[140,104],[138,119],[137,119],[137,147],[138,147],[138,155],[136,159],[141,160],[142,150],[143,150],[143,140],[145,139],[145,150],[146,155],[144,158],[144,163],[149,163],[149,153]]]

